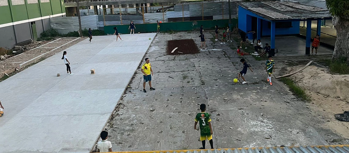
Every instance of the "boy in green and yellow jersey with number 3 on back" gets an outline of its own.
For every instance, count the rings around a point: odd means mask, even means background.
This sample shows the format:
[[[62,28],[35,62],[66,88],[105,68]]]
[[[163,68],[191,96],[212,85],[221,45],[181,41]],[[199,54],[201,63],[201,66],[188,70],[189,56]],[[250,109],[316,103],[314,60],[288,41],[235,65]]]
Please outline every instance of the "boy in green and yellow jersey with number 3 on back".
[[[209,140],[211,149],[213,149],[213,140],[212,140],[212,126],[211,126],[211,118],[209,113],[205,113],[206,105],[200,105],[201,113],[196,114],[194,129],[196,129],[196,124],[200,125],[200,140],[202,142],[202,147],[200,149],[205,149],[206,139]]]

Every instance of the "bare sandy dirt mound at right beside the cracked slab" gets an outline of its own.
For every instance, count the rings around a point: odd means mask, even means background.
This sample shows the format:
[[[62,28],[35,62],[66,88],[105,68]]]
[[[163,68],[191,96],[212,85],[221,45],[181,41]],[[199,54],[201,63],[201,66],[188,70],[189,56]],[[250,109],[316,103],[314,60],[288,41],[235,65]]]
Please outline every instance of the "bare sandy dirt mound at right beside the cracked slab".
[[[290,67],[288,70],[292,72],[299,68]],[[348,123],[338,121],[334,117],[334,114],[349,110],[349,75],[331,74],[327,68],[309,66],[291,78],[306,89],[312,100],[307,106],[322,118],[325,128],[349,138]],[[319,112],[325,113],[326,116],[320,115]]]

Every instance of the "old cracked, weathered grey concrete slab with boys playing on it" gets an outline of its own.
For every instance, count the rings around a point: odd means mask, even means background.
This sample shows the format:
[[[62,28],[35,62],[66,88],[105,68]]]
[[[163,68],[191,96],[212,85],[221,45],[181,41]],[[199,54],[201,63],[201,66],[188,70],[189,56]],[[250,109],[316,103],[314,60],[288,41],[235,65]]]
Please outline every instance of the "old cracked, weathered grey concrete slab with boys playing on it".
[[[142,92],[138,69],[120,101],[119,115],[107,127],[113,151],[201,147],[200,131],[193,128],[199,104],[207,104],[211,114],[215,148],[336,144],[333,139],[349,143],[325,126],[319,117],[322,112],[310,112],[305,106],[309,103],[297,99],[279,80],[272,78],[274,85],[270,86],[265,61],[245,55],[253,72],[248,70],[247,84],[233,83],[242,70],[242,57],[235,49],[239,44],[212,42],[213,31],[205,32],[208,49],[222,51],[171,57],[165,55],[166,40],[190,36],[199,45],[198,32],[157,34],[146,54],[155,72],[152,84],[156,90],[148,90],[147,83],[148,92]]]

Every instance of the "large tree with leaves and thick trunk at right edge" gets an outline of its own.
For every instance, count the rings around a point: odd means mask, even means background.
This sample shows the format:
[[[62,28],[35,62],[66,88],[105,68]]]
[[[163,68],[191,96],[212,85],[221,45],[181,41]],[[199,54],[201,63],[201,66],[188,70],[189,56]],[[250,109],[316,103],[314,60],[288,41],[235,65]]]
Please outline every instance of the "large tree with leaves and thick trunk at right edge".
[[[349,63],[349,0],[326,0],[337,31],[332,59],[347,58]]]

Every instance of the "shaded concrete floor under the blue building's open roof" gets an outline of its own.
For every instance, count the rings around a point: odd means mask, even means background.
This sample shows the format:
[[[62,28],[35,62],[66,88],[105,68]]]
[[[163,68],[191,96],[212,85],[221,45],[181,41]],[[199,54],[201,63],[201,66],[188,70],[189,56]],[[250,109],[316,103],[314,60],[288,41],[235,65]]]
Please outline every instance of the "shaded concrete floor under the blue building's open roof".
[[[270,45],[270,38],[261,38],[261,42],[263,43],[263,46],[265,46],[265,43],[268,43]],[[277,56],[305,55],[305,39],[295,37],[295,36],[276,37],[275,52],[276,52],[276,49],[278,49],[279,51],[279,53],[276,53]],[[310,53],[311,53],[311,48],[310,48]],[[315,49],[314,49],[314,54],[315,54]],[[324,54],[333,54],[333,50],[320,45],[318,48],[318,55],[324,55]]]

